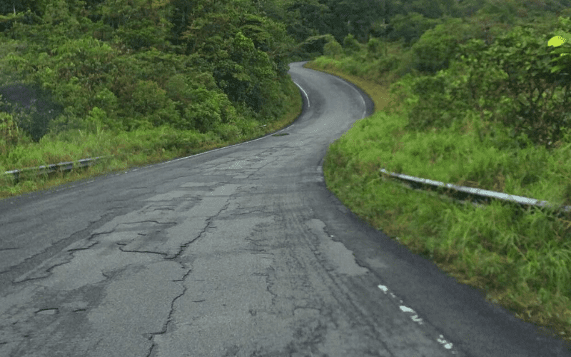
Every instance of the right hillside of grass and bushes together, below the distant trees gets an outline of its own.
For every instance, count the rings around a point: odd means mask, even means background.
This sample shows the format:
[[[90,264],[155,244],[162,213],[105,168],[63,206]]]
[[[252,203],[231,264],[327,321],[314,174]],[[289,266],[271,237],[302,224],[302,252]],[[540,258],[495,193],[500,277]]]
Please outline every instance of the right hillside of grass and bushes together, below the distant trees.
[[[478,38],[485,16],[442,19],[408,44],[329,38],[308,67],[353,81],[376,111],[330,146],[325,181],[411,251],[571,341],[571,213],[462,204],[379,172],[571,206],[571,46],[547,46],[571,19],[497,22]]]

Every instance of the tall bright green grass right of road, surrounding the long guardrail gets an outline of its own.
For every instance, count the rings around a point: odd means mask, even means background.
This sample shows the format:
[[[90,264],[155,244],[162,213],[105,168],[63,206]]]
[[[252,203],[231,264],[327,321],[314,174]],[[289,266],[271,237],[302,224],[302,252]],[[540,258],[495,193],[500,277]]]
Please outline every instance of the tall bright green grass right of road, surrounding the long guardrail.
[[[379,173],[385,168],[570,205],[571,136],[551,152],[517,149],[505,128],[472,112],[450,129],[405,131],[406,116],[390,100],[390,81],[346,75],[342,61],[324,57],[306,67],[347,79],[375,101],[375,114],[328,149],[323,171],[330,191],[488,301],[571,342],[571,213],[557,216],[501,201],[461,204]],[[480,141],[490,131],[495,136]]]

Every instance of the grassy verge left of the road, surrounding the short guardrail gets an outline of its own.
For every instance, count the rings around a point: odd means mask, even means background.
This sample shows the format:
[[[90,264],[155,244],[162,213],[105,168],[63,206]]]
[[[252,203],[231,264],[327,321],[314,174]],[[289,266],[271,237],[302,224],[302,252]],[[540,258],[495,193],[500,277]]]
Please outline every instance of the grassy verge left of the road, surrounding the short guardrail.
[[[223,124],[208,133],[180,131],[162,126],[120,134],[111,131],[98,131],[93,134],[74,131],[45,136],[39,143],[21,143],[6,155],[0,156],[0,199],[259,138],[283,129],[293,123],[301,113],[303,101],[293,81],[289,82],[288,93],[283,100],[287,102],[287,110],[277,120],[261,123],[250,119]],[[17,182],[12,175],[4,175],[4,172],[9,170],[96,156],[112,157],[88,168],[58,172],[49,176],[22,176]]]

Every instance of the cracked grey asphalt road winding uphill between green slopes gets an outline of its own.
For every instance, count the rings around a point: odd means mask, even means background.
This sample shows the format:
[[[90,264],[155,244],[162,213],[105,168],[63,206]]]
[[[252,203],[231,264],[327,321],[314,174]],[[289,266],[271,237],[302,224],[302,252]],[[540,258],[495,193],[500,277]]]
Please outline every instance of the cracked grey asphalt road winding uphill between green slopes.
[[[0,201],[0,356],[571,356],[327,190],[373,106],[290,67],[288,135]]]

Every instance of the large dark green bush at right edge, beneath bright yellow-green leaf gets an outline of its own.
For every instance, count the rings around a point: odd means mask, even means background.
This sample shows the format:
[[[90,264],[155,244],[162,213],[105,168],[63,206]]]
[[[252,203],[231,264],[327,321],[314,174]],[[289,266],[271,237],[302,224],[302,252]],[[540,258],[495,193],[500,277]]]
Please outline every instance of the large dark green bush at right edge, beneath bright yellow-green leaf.
[[[502,121],[514,136],[525,133],[547,148],[562,138],[571,103],[562,69],[552,65],[549,37],[516,26],[490,46],[480,40],[460,46],[460,59],[469,64],[466,88],[477,109]]]

